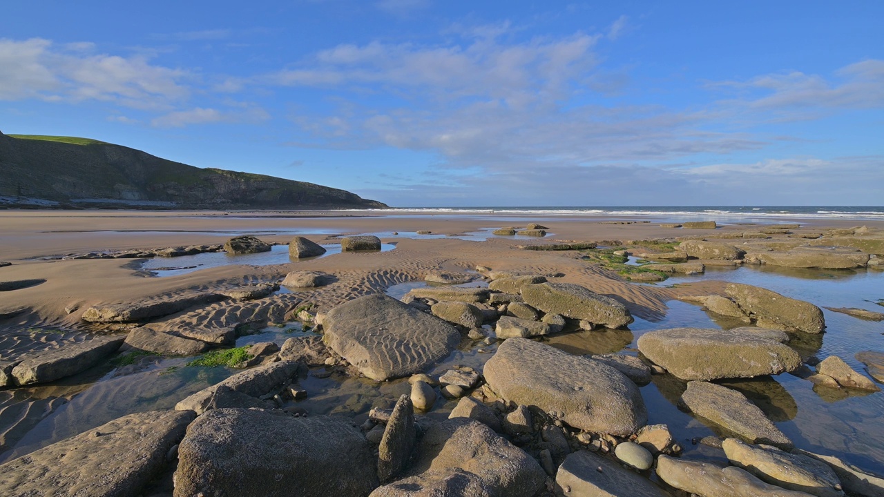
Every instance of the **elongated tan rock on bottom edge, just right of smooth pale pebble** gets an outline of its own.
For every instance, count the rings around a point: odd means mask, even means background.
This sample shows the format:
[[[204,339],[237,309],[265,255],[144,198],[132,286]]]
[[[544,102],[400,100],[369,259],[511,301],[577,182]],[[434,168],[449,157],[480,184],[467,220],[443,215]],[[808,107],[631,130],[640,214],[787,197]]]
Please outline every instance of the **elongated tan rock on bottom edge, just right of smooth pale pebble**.
[[[809,497],[808,493],[767,485],[735,466],[721,469],[710,463],[682,461],[668,455],[657,459],[657,475],[667,484],[701,497]]]

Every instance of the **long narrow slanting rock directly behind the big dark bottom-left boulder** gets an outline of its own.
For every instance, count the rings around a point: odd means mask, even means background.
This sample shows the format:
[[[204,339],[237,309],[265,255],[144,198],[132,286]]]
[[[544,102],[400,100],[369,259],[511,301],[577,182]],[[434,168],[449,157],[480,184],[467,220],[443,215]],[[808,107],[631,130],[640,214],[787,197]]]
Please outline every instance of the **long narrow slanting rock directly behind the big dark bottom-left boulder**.
[[[233,391],[240,394],[261,397],[270,393],[274,388],[286,384],[295,373],[298,372],[298,363],[292,361],[280,361],[270,363],[257,368],[242,371],[199,392],[190,395],[175,405],[176,410],[194,410],[196,414],[202,414],[210,404],[212,395],[219,386],[229,386]]]

